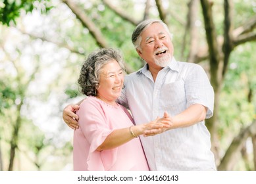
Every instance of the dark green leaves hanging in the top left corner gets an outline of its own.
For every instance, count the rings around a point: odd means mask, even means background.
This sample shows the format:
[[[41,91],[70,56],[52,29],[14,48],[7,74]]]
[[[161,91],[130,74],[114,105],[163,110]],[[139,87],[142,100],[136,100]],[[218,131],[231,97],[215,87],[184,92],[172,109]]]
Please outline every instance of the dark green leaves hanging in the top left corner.
[[[33,9],[40,8],[41,12],[47,12],[51,7],[47,5],[49,0],[1,0],[0,1],[0,22],[10,25],[16,24],[16,18],[21,11],[32,12]]]

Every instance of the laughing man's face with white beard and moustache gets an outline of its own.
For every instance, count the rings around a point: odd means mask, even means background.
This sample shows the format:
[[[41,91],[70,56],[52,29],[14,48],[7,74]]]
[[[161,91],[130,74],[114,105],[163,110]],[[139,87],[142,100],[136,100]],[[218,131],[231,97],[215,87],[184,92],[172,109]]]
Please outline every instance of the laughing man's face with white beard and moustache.
[[[149,64],[149,68],[161,68],[168,65],[173,55],[170,35],[162,24],[155,22],[141,34],[141,50],[137,50],[141,58]]]

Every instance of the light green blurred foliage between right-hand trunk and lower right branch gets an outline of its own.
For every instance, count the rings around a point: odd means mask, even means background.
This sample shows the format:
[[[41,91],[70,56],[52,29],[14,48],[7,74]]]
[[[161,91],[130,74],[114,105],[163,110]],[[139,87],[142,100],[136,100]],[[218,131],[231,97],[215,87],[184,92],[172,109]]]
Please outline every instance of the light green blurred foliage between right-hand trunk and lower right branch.
[[[226,149],[234,135],[248,126],[255,118],[256,106],[256,45],[245,43],[230,56],[229,70],[220,96],[218,136],[222,148]],[[249,90],[254,101],[249,101]]]

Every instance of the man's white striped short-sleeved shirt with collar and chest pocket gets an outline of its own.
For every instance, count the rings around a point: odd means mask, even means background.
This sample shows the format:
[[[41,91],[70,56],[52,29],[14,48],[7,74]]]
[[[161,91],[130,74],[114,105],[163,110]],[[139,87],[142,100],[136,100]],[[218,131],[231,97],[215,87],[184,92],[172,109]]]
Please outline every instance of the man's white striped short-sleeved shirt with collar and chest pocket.
[[[163,117],[165,111],[175,116],[192,104],[206,106],[206,118],[213,116],[214,92],[207,74],[198,64],[175,58],[157,74],[155,82],[147,64],[127,75],[118,100],[130,108],[136,124]],[[140,139],[150,170],[216,170],[204,121]]]

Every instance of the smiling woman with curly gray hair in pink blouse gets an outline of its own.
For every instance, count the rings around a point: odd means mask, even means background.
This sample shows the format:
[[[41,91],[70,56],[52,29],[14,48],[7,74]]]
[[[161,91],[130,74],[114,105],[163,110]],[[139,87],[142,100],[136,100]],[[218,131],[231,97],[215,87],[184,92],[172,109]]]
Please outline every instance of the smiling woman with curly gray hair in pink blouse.
[[[149,170],[140,139],[146,131],[168,127],[157,118],[134,126],[132,116],[115,102],[124,83],[122,57],[114,49],[100,49],[84,62],[78,83],[88,96],[76,114],[74,170]]]

